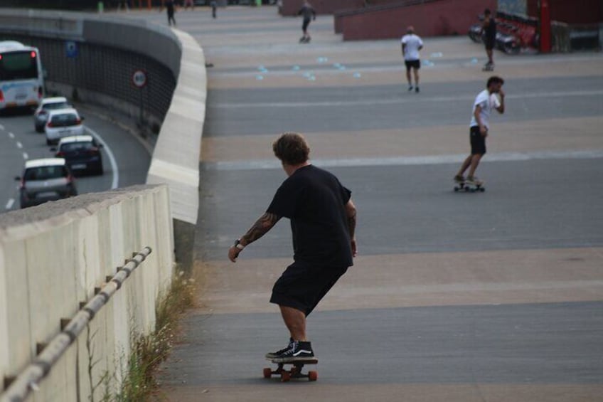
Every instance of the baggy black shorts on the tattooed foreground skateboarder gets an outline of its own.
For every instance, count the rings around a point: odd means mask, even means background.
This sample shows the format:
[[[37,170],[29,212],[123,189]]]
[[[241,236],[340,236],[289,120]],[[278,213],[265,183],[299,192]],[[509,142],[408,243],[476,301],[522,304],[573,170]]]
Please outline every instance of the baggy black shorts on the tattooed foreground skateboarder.
[[[346,270],[293,263],[274,283],[270,302],[302,311],[307,317]]]

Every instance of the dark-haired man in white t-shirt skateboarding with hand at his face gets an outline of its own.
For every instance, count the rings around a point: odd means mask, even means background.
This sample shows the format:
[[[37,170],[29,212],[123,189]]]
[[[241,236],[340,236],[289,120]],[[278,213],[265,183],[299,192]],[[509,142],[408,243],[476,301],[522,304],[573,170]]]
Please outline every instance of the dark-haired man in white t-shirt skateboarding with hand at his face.
[[[481,186],[484,183],[475,176],[475,171],[481,157],[484,157],[484,154],[486,154],[486,137],[488,136],[490,127],[491,111],[495,109],[501,114],[505,112],[505,92],[502,88],[504,83],[505,81],[502,78],[493,75],[489,78],[488,83],[486,83],[486,89],[479,92],[475,98],[471,123],[469,124],[471,154],[464,160],[457,176],[454,176],[454,181],[457,181],[457,183],[465,182],[464,174],[466,169],[469,169],[466,183],[473,184],[474,186]],[[498,94],[500,100],[496,94]]]

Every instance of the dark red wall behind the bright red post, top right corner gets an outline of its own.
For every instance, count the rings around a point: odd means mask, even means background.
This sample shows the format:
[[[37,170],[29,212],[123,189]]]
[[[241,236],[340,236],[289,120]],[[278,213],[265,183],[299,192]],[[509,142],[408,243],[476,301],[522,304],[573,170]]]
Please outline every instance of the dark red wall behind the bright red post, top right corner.
[[[565,23],[603,22],[602,0],[549,0],[550,18]],[[538,0],[528,0],[528,15],[537,17]]]

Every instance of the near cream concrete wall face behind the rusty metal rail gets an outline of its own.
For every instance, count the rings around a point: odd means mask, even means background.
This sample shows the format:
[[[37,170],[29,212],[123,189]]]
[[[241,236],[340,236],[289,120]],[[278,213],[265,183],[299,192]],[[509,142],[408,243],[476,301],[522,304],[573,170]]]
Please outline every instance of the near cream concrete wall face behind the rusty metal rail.
[[[80,303],[144,247],[151,254],[28,401],[101,401],[119,387],[133,335],[154,330],[174,270],[165,184],[84,194],[0,215],[0,379],[18,376]],[[0,383],[0,395],[6,384]],[[0,397],[1,399],[1,397]]]

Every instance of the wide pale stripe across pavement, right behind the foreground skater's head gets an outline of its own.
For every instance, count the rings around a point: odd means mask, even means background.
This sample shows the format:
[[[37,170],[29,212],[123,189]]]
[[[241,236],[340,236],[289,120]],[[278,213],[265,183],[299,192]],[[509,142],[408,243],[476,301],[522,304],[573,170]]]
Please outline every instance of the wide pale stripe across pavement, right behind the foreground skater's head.
[[[312,159],[312,163],[321,167],[353,167],[353,166],[403,166],[429,164],[457,164],[463,162],[466,154],[427,155],[424,157],[389,157],[389,158],[351,158],[351,159]],[[514,162],[534,159],[597,159],[603,158],[603,150],[567,151],[567,152],[506,152],[488,154],[484,162]],[[204,164],[208,170],[247,170],[247,169],[282,169],[276,159],[259,159],[235,162],[208,162]]]

